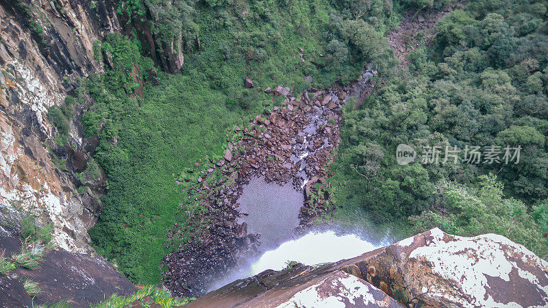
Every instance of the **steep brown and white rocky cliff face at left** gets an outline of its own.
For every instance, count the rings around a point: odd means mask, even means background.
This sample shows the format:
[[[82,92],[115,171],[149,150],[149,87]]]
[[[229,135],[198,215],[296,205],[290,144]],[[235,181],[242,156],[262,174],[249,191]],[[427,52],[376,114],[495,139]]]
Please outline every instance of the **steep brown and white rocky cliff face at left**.
[[[12,219],[14,211],[27,211],[53,223],[55,242],[67,251],[90,251],[87,230],[101,210],[98,193],[105,175],[88,185],[92,189],[77,191],[78,174],[97,146],[97,139],[82,138],[80,124],[92,102],[84,96],[84,103],[76,104],[65,146],[53,142],[58,135],[47,117],[49,107],[62,104],[80,78],[101,73],[103,62],[95,60],[93,46],[110,32],[136,29],[144,52],[168,71],[179,70],[184,60],[174,51],[182,50],[177,42],[156,46],[160,40],[149,21],[119,15],[119,5],[0,0],[0,216]],[[165,51],[162,56],[158,49]]]

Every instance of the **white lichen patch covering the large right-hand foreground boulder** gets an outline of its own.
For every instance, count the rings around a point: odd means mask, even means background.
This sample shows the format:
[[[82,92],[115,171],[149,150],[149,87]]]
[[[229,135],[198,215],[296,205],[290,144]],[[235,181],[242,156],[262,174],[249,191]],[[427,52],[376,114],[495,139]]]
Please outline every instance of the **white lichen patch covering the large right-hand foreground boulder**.
[[[452,240],[445,242],[443,231],[430,232],[432,240],[427,246],[414,249],[409,258],[428,264],[432,273],[440,277],[435,284],[427,285],[427,294],[432,298],[445,298],[464,307],[519,307],[510,300],[501,303],[495,298],[501,298],[501,294],[493,292],[501,292],[500,284],[506,282],[512,290],[534,294],[531,302],[539,299],[540,305],[548,301],[548,276],[546,270],[541,270],[547,268],[547,262],[524,246],[495,234],[451,236]],[[530,272],[530,268],[535,272]],[[516,281],[515,273],[522,278],[520,281]],[[497,281],[497,285],[490,285],[490,281]],[[508,294],[502,294],[505,296]]]

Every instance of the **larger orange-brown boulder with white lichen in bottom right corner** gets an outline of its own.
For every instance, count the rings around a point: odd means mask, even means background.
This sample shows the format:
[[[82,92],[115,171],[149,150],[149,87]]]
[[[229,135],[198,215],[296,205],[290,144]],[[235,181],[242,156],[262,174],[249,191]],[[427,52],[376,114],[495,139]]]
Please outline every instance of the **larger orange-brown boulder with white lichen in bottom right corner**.
[[[337,268],[413,307],[546,307],[548,262],[502,235],[432,229]]]

